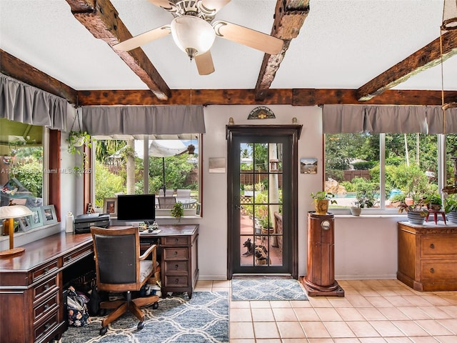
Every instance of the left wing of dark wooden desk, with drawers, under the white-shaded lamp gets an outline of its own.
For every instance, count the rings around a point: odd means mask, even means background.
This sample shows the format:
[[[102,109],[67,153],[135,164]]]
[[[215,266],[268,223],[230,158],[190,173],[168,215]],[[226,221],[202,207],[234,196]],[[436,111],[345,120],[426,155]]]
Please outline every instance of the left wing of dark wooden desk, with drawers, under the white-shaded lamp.
[[[42,343],[66,330],[63,274],[93,254],[91,237],[56,234],[0,259],[0,342]],[[69,257],[73,258],[69,258]]]

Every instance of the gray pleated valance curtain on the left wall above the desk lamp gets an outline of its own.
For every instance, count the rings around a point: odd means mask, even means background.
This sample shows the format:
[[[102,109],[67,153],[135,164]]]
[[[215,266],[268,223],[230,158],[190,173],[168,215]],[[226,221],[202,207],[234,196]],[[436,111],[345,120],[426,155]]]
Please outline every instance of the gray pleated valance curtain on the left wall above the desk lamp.
[[[66,131],[66,99],[0,74],[0,118]]]

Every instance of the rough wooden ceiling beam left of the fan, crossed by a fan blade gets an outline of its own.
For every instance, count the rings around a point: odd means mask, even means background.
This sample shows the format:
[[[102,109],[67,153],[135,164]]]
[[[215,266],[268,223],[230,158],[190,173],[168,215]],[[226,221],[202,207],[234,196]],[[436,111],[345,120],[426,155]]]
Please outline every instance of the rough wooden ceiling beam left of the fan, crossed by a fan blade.
[[[66,2],[69,3],[74,17],[86,26],[95,38],[106,41],[109,46],[132,37],[109,0],[66,0]],[[166,100],[171,96],[169,86],[141,48],[131,51],[114,50],[114,52],[151,89],[157,99]]]

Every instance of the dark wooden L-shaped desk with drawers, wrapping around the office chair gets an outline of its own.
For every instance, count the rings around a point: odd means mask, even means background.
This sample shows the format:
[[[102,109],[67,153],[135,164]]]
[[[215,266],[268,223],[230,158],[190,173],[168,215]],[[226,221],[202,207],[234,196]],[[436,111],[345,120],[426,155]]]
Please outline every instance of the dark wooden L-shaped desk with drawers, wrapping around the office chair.
[[[159,244],[162,294],[187,292],[190,298],[199,276],[199,226],[160,228],[159,234],[141,233],[141,245]],[[89,233],[61,232],[24,248],[26,251],[21,255],[0,259],[0,343],[45,343],[60,339],[67,327],[65,283],[81,275],[81,265],[92,268],[94,264]]]

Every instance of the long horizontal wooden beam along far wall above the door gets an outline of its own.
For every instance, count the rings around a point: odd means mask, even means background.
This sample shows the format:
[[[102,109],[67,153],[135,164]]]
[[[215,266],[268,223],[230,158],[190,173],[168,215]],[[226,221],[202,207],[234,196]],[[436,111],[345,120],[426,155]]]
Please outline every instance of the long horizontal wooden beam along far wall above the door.
[[[385,91],[370,101],[358,101],[356,89],[268,89],[263,101],[254,89],[193,89],[192,104],[315,106],[320,104],[440,105],[441,91]],[[79,104],[91,105],[177,105],[189,104],[189,89],[171,90],[167,101],[159,101],[149,91],[79,91]],[[445,92],[446,102],[457,101],[457,91]]]

